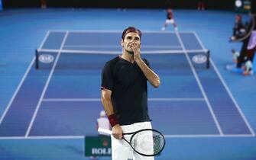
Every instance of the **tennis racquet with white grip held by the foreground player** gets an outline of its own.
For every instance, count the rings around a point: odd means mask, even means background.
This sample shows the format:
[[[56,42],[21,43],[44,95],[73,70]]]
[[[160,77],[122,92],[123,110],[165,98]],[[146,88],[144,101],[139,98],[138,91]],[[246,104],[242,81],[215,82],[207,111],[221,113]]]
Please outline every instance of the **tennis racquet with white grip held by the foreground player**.
[[[111,130],[98,129],[99,133],[112,135]],[[125,135],[130,135],[131,139],[125,139]],[[140,155],[154,156],[160,154],[165,146],[164,135],[157,130],[144,129],[133,133],[122,133],[122,139]]]

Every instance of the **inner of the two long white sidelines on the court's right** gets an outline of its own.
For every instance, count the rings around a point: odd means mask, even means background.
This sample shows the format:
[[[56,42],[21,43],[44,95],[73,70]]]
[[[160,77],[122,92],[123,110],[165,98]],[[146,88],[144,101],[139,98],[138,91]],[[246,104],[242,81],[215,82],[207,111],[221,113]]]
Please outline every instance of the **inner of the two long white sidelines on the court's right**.
[[[183,41],[181,40],[180,34],[179,34],[178,32],[177,32],[177,37],[178,37],[178,40],[180,41],[180,45],[183,46],[183,50],[185,50],[185,46],[184,46]],[[202,94],[203,94],[203,97],[204,97],[205,100],[206,100],[206,104],[207,104],[207,106],[208,106],[208,108],[209,108],[209,110],[210,110],[210,113],[212,114],[212,118],[213,118],[213,120],[215,121],[215,125],[217,126],[220,135],[223,136],[222,128],[219,126],[219,122],[218,122],[217,118],[215,117],[215,113],[214,113],[214,111],[212,110],[212,105],[209,103],[209,99],[207,98],[206,91],[204,90],[203,85],[201,84],[201,82],[200,82],[200,80],[199,80],[199,77],[198,77],[198,75],[197,75],[197,73],[196,73],[196,70],[195,70],[195,68],[194,68],[194,66],[193,66],[193,64],[192,64],[192,62],[191,62],[191,60],[190,60],[190,56],[188,56],[188,53],[186,53],[186,51],[185,51],[185,55],[186,55],[187,61],[188,61],[189,64],[190,64],[190,67],[191,67],[191,69],[192,69],[193,75],[194,75],[195,78],[196,78],[196,82],[198,83],[199,88],[200,88],[200,90],[201,90],[201,92],[202,92]]]

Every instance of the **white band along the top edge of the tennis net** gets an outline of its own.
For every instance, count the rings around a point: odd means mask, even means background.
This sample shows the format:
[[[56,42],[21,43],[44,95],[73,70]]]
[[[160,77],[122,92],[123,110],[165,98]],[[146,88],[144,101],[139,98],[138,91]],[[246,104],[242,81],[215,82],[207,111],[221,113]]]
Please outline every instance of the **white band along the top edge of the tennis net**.
[[[180,53],[206,53],[208,50],[154,50],[154,51],[141,51],[143,54],[180,54]],[[66,54],[105,54],[105,55],[119,55],[122,54],[120,51],[102,51],[102,50],[52,50],[52,49],[41,49],[38,52],[50,52],[50,53],[66,53]]]

